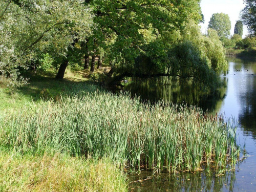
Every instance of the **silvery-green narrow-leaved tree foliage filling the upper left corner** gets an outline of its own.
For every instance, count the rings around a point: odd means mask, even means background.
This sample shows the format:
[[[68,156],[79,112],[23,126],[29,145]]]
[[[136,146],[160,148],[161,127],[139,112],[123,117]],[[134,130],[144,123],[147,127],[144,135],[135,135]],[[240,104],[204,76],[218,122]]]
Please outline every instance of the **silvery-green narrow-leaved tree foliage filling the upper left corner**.
[[[90,34],[93,21],[80,0],[4,0],[0,24],[0,73],[16,80],[18,70],[42,53],[67,57],[74,40]]]

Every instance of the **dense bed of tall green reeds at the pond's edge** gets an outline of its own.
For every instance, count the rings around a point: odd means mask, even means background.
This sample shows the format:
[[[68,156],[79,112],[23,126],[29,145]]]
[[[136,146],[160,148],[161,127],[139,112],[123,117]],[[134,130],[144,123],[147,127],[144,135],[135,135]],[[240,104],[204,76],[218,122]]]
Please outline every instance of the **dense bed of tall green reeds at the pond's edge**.
[[[176,173],[234,167],[240,148],[236,126],[200,108],[129,95],[83,92],[32,103],[0,123],[0,143],[22,153],[65,152],[108,157],[133,172]]]

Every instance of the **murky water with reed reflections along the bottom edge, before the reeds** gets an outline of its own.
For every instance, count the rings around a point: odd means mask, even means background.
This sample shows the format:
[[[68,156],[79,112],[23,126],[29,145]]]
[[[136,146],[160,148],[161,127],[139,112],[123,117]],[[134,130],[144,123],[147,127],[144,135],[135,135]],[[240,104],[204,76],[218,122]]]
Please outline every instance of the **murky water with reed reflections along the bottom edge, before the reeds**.
[[[219,177],[207,177],[203,172],[195,174],[177,174],[176,176],[161,174],[152,179],[143,180],[146,173],[130,176],[130,191],[236,191],[236,174],[227,173]]]

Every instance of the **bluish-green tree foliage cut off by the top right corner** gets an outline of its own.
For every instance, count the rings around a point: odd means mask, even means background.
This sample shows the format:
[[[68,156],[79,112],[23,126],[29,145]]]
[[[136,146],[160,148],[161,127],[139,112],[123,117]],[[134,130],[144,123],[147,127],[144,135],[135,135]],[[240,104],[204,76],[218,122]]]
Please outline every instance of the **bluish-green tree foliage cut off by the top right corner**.
[[[256,0],[244,0],[245,8],[241,11],[241,19],[253,35],[256,35]]]

